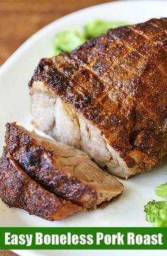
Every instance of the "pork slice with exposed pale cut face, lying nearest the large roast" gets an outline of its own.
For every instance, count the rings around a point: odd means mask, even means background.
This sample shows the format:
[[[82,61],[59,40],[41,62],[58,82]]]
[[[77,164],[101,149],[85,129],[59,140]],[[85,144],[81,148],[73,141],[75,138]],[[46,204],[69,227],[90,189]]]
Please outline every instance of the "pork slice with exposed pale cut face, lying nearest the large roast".
[[[67,200],[91,208],[122,193],[122,183],[90,157],[64,143],[6,124],[6,149],[35,181]]]

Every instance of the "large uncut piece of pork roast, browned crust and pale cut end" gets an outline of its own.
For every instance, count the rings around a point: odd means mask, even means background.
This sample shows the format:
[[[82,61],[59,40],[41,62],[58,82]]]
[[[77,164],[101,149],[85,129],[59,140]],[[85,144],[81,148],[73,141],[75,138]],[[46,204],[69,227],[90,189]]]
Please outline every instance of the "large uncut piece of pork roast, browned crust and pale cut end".
[[[149,171],[167,149],[167,18],[42,59],[29,86],[38,129],[117,176]]]

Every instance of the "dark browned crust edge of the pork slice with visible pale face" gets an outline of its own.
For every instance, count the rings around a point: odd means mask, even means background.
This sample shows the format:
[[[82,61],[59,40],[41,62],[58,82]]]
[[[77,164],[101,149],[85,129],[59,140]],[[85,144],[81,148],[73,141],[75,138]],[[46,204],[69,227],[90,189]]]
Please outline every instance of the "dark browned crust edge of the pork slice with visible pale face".
[[[6,124],[6,149],[27,174],[47,190],[86,208],[96,203],[96,191],[57,169],[52,151],[39,144],[35,134],[32,137],[16,123]]]

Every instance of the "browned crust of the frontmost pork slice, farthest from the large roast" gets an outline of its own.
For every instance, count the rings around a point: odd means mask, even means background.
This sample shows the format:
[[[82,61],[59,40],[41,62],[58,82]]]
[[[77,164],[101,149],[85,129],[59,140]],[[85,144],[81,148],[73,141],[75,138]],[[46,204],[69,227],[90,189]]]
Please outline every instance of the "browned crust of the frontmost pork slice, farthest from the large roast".
[[[33,181],[6,149],[0,159],[0,197],[9,207],[22,208],[45,220],[62,220],[83,210]]]

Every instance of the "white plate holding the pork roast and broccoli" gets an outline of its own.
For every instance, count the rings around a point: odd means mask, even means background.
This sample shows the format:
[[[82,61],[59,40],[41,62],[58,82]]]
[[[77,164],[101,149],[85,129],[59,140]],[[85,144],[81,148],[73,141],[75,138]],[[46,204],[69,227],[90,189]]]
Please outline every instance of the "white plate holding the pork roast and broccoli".
[[[77,11],[54,21],[35,33],[0,68],[0,150],[2,150],[4,142],[4,125],[6,122],[17,121],[18,124],[31,128],[28,80],[33,75],[33,70],[40,58],[50,57],[53,54],[52,41],[55,33],[71,27],[80,27],[85,22],[95,18],[138,23],[149,18],[161,18],[162,16],[167,16],[166,1],[118,1]],[[66,220],[53,223],[28,215],[24,210],[9,209],[0,202],[0,226],[150,226],[144,220],[143,207],[150,198],[160,199],[155,196],[154,188],[166,181],[165,171],[166,163],[163,161],[158,169],[149,172],[149,174],[142,174],[130,178],[128,181],[123,181],[124,193],[108,207],[88,213],[79,213]],[[134,251],[126,252],[128,255],[134,253]],[[54,255],[53,251],[19,251],[19,253],[21,255],[38,255],[38,253],[39,255]],[[80,253],[84,255],[85,252]],[[104,253],[109,255],[110,252],[105,251]],[[118,252],[114,253],[117,254]],[[76,255],[78,252],[59,251],[59,255],[67,254]],[[98,255],[98,252],[87,251],[86,254]],[[125,255],[125,252],[123,254]],[[137,253],[135,252],[135,254]]]

